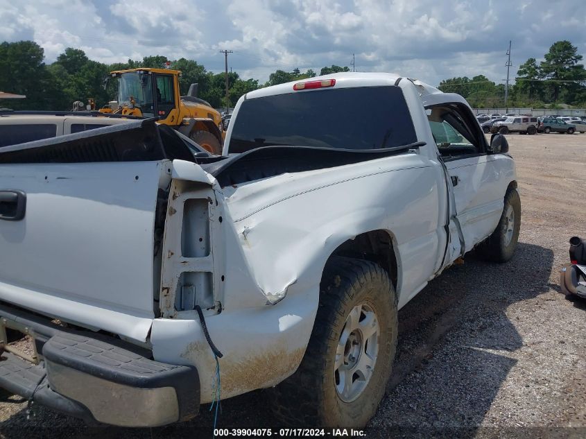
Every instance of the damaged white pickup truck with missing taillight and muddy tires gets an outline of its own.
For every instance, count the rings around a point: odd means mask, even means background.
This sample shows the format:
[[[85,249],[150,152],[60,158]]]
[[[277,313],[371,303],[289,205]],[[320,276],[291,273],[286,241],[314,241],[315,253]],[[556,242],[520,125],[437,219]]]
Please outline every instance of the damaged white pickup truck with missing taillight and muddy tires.
[[[1,387],[121,426],[274,387],[283,422],[363,426],[397,310],[517,246],[506,139],[418,80],[259,89],[223,157],[186,145],[136,121],[0,148]]]

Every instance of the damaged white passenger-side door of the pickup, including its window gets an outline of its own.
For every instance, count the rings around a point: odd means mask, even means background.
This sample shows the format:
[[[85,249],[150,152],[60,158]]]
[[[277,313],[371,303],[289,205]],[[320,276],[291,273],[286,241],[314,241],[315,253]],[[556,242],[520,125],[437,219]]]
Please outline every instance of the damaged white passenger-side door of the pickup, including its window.
[[[460,244],[468,251],[497,227],[503,211],[505,181],[510,181],[503,176],[506,166],[499,159],[503,156],[490,153],[469,107],[463,103],[442,103],[426,109],[454,195],[456,227],[450,227],[451,235],[452,229],[459,228]],[[447,255],[445,264],[458,256]]]

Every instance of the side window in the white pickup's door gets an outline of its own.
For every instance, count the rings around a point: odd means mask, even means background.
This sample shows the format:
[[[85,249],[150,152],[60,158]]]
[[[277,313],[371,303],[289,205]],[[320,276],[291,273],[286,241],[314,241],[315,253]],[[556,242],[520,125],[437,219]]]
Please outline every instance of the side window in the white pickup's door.
[[[454,160],[482,153],[474,132],[452,107],[436,107],[428,114],[429,128],[440,155]]]

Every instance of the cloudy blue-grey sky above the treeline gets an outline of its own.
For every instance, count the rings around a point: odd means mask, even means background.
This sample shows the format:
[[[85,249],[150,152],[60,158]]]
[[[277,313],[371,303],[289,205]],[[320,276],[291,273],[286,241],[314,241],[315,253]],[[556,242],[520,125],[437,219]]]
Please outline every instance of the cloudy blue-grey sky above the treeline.
[[[585,0],[0,0],[0,42],[34,40],[45,62],[67,47],[111,63],[188,58],[264,83],[277,69],[331,64],[431,85],[506,78],[569,40],[586,55]]]

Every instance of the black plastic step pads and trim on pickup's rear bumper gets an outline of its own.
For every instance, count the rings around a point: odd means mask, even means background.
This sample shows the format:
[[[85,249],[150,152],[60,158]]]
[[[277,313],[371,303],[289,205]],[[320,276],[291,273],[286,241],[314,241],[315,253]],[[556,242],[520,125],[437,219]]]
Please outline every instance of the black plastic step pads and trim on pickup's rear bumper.
[[[46,340],[37,343],[37,350],[40,348],[46,361],[135,388],[173,387],[178,398],[179,420],[191,419],[199,411],[200,380],[196,368],[153,361],[148,358],[150,351],[130,343],[89,331],[62,329],[46,318],[8,305],[0,304],[0,317],[26,324],[34,332],[35,342]],[[46,381],[42,379],[46,375],[44,362],[33,365],[8,352],[3,354],[2,360],[1,388],[27,399],[34,394],[33,400],[40,404],[58,406],[62,413],[85,419],[80,416],[83,410],[79,406],[83,407],[82,404],[52,390],[50,394],[39,394]],[[44,402],[41,403],[39,398]],[[51,398],[56,401],[51,402]],[[61,399],[67,399],[67,402]]]

